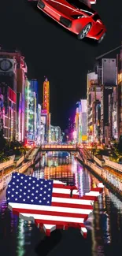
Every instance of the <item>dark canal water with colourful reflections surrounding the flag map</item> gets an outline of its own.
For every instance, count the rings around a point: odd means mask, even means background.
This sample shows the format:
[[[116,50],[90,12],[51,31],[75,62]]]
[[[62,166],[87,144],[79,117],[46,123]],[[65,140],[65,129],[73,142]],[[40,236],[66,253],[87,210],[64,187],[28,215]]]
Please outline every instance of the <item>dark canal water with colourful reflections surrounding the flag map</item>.
[[[35,168],[25,174],[76,185],[81,195],[98,184],[72,154],[65,152],[42,155]],[[122,255],[122,202],[107,188],[94,203],[86,226],[87,239],[75,228],[57,230],[46,237],[31,221],[23,221],[7,209],[6,189],[0,194],[0,256]]]

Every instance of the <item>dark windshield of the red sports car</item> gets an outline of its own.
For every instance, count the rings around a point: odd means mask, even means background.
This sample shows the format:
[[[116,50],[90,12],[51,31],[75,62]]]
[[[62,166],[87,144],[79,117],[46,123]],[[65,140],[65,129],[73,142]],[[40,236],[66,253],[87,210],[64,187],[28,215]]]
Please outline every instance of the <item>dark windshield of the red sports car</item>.
[[[83,13],[91,16],[95,13],[93,9],[85,5],[81,0],[66,0],[70,5],[76,7],[76,9],[80,9]]]

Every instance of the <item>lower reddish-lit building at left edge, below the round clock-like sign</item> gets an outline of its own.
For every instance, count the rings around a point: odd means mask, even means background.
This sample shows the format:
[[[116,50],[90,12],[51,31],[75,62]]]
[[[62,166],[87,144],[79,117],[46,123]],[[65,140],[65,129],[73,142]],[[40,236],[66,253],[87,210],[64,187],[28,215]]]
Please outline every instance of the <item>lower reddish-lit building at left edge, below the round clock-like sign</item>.
[[[1,132],[9,142],[17,137],[17,95],[6,83],[0,83]]]

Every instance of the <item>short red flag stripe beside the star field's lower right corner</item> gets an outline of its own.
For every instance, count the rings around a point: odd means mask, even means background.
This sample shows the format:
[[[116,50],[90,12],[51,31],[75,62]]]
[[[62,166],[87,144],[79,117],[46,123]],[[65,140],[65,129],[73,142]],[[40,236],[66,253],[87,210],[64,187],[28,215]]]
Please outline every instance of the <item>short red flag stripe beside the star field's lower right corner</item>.
[[[59,205],[59,202],[52,202],[51,203],[51,206],[60,206],[60,207],[68,207],[68,208],[77,208],[77,209],[86,209],[86,210],[93,210],[93,206],[91,205],[78,205],[78,204],[75,204],[75,203],[66,203],[66,202],[60,202],[60,205]]]

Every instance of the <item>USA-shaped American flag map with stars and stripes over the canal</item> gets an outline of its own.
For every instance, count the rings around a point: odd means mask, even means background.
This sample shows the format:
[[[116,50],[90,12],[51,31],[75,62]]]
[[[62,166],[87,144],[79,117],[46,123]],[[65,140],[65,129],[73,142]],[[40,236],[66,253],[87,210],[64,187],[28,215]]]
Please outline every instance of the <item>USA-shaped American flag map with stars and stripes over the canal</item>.
[[[26,221],[34,221],[46,236],[56,228],[80,228],[87,237],[84,221],[93,212],[94,201],[102,193],[103,184],[82,197],[77,187],[58,180],[37,179],[13,173],[6,191],[8,207]]]

